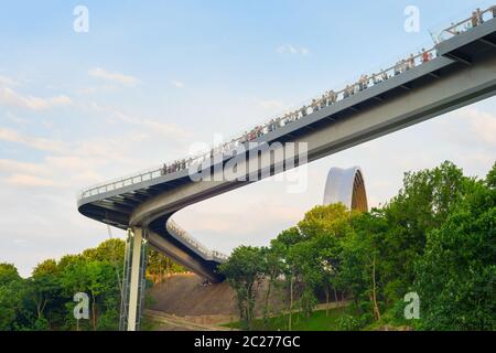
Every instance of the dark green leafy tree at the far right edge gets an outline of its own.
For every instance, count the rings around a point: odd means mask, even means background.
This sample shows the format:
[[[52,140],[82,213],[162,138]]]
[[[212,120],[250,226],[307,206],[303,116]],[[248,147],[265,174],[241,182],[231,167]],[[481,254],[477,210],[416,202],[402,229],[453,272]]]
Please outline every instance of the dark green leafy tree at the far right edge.
[[[428,235],[416,288],[427,330],[496,330],[495,168]]]

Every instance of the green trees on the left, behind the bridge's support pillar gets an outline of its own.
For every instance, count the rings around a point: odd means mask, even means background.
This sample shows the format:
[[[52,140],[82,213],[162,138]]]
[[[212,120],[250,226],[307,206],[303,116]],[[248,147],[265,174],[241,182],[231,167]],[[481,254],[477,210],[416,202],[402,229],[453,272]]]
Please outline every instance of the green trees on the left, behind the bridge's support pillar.
[[[78,255],[39,264],[30,278],[21,278],[11,264],[0,264],[0,331],[117,330],[120,280],[126,244],[109,239]],[[163,280],[184,269],[153,249],[148,252],[147,277]],[[77,321],[73,296],[89,297],[89,320]]]

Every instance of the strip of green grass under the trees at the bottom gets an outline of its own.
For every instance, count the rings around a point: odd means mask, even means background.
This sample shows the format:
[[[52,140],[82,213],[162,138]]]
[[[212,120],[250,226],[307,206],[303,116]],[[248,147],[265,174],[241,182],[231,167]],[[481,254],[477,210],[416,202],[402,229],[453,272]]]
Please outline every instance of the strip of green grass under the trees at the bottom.
[[[309,318],[302,312],[293,313],[292,315],[292,331],[337,331],[337,320],[339,318],[351,314],[351,308],[335,308],[328,310],[328,315],[325,310],[314,311]],[[269,318],[267,324],[262,319],[254,321],[254,330],[259,331],[285,331],[288,330],[289,314],[282,314]],[[239,329],[239,322],[231,322],[225,324],[227,328]]]

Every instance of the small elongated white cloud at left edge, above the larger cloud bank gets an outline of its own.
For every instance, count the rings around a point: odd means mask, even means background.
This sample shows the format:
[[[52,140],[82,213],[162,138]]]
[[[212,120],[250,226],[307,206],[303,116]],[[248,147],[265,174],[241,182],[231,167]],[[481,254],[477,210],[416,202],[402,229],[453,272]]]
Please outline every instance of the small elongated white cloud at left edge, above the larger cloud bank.
[[[67,106],[73,100],[64,95],[50,98],[41,98],[35,96],[24,96],[12,88],[3,87],[0,89],[0,105],[21,107],[30,110],[45,110],[56,106]]]

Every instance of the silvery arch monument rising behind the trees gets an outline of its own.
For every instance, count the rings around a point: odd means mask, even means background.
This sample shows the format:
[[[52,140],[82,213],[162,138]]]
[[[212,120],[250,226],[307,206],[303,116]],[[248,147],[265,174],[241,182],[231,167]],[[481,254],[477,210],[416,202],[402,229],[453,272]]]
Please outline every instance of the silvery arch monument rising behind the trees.
[[[324,191],[324,205],[343,203],[349,210],[368,211],[364,173],[359,167],[331,168]]]

